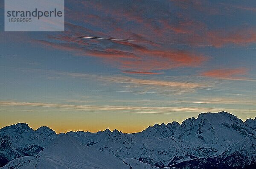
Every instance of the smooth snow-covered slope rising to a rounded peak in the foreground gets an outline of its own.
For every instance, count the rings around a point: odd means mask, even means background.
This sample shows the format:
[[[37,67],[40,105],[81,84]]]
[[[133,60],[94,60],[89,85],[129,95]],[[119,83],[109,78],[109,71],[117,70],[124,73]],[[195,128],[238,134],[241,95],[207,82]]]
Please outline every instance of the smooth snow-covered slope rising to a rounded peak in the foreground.
[[[1,169],[129,169],[119,158],[61,135],[38,155],[17,158]]]

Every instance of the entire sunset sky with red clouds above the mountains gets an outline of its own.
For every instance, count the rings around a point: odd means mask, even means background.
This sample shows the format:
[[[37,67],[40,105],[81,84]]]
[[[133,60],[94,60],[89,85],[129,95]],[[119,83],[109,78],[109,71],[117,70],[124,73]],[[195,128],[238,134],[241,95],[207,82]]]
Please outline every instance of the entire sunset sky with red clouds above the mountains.
[[[202,112],[256,116],[255,0],[65,0],[63,32],[3,22],[0,128],[130,133]]]

